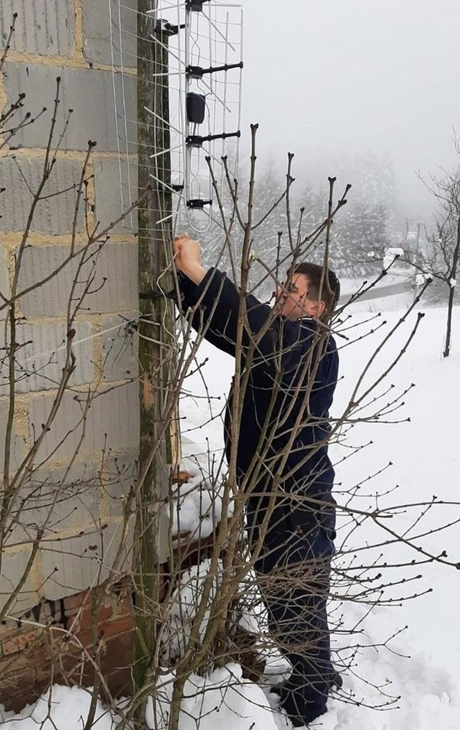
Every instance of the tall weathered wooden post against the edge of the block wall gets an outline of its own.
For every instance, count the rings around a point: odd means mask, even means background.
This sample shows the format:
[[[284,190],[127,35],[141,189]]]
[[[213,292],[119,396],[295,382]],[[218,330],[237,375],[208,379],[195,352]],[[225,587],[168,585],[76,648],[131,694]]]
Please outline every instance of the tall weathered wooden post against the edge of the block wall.
[[[172,210],[168,189],[152,174],[170,185],[169,89],[167,37],[158,31],[157,0],[139,0],[137,15],[137,154],[139,192],[151,189],[139,206],[139,400],[140,450],[137,488],[137,521],[134,542],[134,685],[137,690],[152,678],[158,632],[161,591],[161,501],[167,496],[171,468],[170,429],[164,430],[166,353],[173,331],[172,302],[158,293],[169,291],[172,280],[163,272],[169,261]],[[161,40],[160,45],[153,38]],[[155,114],[148,112],[152,110]],[[156,154],[155,158],[150,155]],[[164,222],[161,222],[162,219]],[[147,298],[145,294],[147,293]],[[148,293],[152,296],[148,297]],[[164,324],[164,326],[162,326]],[[148,339],[146,339],[148,338]],[[161,436],[161,431],[164,435]],[[159,447],[158,447],[159,442]],[[153,455],[154,450],[154,455]],[[153,455],[153,457],[152,457]],[[164,529],[163,529],[164,534]],[[164,548],[163,548],[164,550]],[[163,558],[164,559],[164,558]],[[139,716],[142,709],[139,708]]]

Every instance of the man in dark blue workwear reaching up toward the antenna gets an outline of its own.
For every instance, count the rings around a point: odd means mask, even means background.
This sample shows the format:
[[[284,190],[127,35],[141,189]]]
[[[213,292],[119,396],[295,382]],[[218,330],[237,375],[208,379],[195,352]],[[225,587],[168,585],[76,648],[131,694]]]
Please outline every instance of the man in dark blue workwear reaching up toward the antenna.
[[[235,356],[239,291],[218,269],[204,269],[198,242],[176,237],[174,249],[183,311],[194,307],[193,326]],[[269,628],[293,666],[277,692],[294,726],[326,712],[329,689],[340,681],[326,615],[335,537],[328,418],[338,356],[323,321],[339,293],[333,272],[326,283],[321,266],[298,264],[273,309],[246,297],[237,431],[234,385],[226,408],[226,454],[230,463],[236,432],[237,481],[248,497],[248,534]]]

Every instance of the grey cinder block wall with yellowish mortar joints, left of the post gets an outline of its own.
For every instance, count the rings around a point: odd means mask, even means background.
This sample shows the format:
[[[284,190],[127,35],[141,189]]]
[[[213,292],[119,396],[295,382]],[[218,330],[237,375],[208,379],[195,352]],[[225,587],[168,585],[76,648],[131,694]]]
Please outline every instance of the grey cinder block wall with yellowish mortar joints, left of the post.
[[[45,278],[69,253],[76,193],[72,189],[60,196],[52,193],[77,183],[88,139],[97,142],[88,168],[90,223],[100,220],[104,227],[120,215],[120,167],[129,168],[131,173],[133,189],[126,202],[137,194],[136,1],[126,0],[123,6],[122,26],[125,30],[131,28],[132,35],[122,34],[122,57],[115,0],[2,0],[0,37],[6,37],[13,12],[18,12],[18,21],[0,79],[0,107],[15,101],[18,93],[26,93],[24,110],[33,116],[47,107],[36,123],[26,126],[12,140],[17,149],[7,145],[0,152],[0,187],[6,188],[0,195],[0,291],[4,296],[12,284],[15,254],[30,209],[28,186],[36,189],[41,176],[56,77],[61,77],[57,135],[66,112],[69,108],[74,111],[46,188],[47,198],[39,203],[34,216],[20,272],[20,288]],[[80,213],[77,244],[84,242],[85,219]],[[79,279],[84,280],[90,269],[91,262]],[[23,346],[18,351],[13,468],[28,452],[53,404],[65,358],[66,307],[75,270],[73,263],[42,288],[20,299],[18,342]],[[98,289],[103,280],[104,285]],[[120,223],[101,250],[95,284],[93,288],[98,291],[85,299],[84,309],[77,315],[77,362],[70,390],[36,459],[36,464],[47,460],[34,476],[37,483],[42,480],[42,487],[34,490],[33,484],[27,485],[31,493],[28,510],[23,512],[4,550],[0,604],[7,599],[27,563],[35,526],[54,503],[46,542],[18,601],[10,609],[12,615],[23,614],[46,600],[59,601],[106,580],[118,548],[120,515],[132,480],[139,439],[135,332],[133,338],[133,333],[127,334],[125,328],[127,321],[136,318],[138,306],[133,220]],[[77,286],[75,296],[81,293],[82,286]],[[0,312],[0,322],[4,316],[5,311]],[[1,339],[3,326],[0,330]],[[2,347],[4,343],[0,341],[0,364]],[[85,438],[80,443],[88,391],[97,397],[85,413]],[[2,465],[7,412],[7,373],[3,367]],[[66,434],[69,437],[63,440]],[[105,466],[99,477],[102,461]],[[124,559],[126,567],[129,550]]]

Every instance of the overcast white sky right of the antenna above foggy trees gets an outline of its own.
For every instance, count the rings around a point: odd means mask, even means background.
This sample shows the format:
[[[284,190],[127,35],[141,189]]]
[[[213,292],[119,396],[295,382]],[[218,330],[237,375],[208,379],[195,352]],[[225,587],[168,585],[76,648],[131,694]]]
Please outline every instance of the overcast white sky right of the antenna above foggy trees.
[[[421,215],[415,172],[451,166],[460,130],[460,0],[242,5],[245,137],[258,122],[260,153],[294,151],[305,174],[323,156],[388,151],[403,207]]]

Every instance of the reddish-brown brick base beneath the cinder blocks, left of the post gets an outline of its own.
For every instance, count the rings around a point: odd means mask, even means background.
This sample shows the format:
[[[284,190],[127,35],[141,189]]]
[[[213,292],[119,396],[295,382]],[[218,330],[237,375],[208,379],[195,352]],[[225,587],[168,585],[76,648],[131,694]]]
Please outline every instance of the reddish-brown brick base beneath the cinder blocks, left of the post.
[[[127,580],[43,600],[16,621],[0,625],[0,703],[7,710],[22,710],[47,689],[50,678],[53,683],[91,686],[93,661],[112,696],[127,694],[132,646]]]

